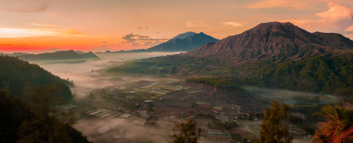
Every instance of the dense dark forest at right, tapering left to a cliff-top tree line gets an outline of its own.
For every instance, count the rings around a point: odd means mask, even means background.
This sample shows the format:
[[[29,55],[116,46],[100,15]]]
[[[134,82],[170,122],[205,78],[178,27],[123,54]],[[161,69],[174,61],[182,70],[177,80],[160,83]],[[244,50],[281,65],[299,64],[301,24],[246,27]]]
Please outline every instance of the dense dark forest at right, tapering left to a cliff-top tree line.
[[[200,83],[219,87],[239,85],[259,86],[333,94],[353,95],[353,53],[327,54],[303,60],[282,63],[259,62],[252,67],[234,67],[233,71],[246,73],[228,77],[191,78],[188,83]]]

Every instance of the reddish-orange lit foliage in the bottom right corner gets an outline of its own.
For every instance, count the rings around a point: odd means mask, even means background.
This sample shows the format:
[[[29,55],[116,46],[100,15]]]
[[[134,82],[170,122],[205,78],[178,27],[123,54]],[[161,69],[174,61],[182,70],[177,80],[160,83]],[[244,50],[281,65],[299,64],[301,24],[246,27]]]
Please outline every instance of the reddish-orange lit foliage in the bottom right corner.
[[[318,123],[313,142],[353,142],[353,106],[327,105],[320,113],[325,121]]]

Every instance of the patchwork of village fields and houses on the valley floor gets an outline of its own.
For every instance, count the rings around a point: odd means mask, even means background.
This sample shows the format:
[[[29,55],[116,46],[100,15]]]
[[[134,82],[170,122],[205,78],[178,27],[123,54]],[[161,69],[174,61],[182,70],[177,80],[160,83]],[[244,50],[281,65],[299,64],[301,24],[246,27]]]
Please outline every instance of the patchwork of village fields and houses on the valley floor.
[[[137,81],[96,89],[83,100],[56,108],[73,112],[76,124],[107,120],[95,128],[92,136],[106,134],[112,139],[109,141],[131,140],[140,135],[130,133],[133,128],[147,127],[153,128],[149,132],[152,136],[170,142],[173,126],[187,119],[193,119],[201,129],[200,142],[252,142],[259,137],[262,113],[243,113],[241,106],[228,101],[206,101],[201,98],[204,94],[207,91],[183,86],[177,79]],[[115,123],[117,120],[119,123]],[[301,139],[310,139],[298,127],[293,126],[290,132]]]

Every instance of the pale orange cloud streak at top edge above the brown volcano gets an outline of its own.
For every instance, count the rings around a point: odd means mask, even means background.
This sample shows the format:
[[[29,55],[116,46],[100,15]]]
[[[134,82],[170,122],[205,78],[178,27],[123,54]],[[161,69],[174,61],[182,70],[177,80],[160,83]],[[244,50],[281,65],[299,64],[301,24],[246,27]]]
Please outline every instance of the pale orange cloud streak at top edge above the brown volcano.
[[[313,3],[314,1],[305,1],[305,0],[265,0],[260,2],[254,2],[249,5],[246,5],[246,8],[252,9],[261,9],[261,8],[293,8],[293,9],[304,9],[309,4]]]

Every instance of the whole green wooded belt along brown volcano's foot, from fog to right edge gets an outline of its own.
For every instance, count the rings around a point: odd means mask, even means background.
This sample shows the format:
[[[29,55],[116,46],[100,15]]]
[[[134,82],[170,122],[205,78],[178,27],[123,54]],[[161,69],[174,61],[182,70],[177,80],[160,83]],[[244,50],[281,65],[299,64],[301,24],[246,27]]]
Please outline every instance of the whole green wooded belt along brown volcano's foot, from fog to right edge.
[[[337,96],[351,96],[353,94],[353,51],[346,50],[281,63],[267,60],[241,65],[227,64],[219,59],[196,58],[179,54],[126,62],[123,65],[109,68],[107,72],[161,76],[202,73],[212,77],[231,77],[250,86],[318,92]],[[205,79],[200,80],[187,80],[187,82],[210,82]],[[218,82],[218,80],[216,81]],[[227,85],[222,86],[227,87]]]

